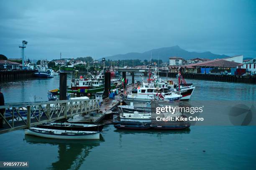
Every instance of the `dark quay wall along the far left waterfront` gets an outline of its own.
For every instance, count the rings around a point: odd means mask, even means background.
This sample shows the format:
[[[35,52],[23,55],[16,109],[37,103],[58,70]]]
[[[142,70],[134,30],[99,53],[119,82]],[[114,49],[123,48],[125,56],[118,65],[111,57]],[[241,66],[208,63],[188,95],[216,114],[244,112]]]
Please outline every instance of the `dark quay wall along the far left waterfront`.
[[[31,70],[0,71],[0,81],[28,79],[34,76],[33,73]]]

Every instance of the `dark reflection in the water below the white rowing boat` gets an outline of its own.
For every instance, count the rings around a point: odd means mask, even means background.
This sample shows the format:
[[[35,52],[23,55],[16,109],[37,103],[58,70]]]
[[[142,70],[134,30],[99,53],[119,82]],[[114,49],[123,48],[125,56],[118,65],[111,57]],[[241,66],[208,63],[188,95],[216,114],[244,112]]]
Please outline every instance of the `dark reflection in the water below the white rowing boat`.
[[[25,135],[25,140],[32,145],[58,145],[58,160],[51,163],[51,167],[49,167],[52,170],[79,169],[91,152],[90,150],[100,146],[100,142],[105,142],[101,134],[100,140],[54,140],[31,135]]]

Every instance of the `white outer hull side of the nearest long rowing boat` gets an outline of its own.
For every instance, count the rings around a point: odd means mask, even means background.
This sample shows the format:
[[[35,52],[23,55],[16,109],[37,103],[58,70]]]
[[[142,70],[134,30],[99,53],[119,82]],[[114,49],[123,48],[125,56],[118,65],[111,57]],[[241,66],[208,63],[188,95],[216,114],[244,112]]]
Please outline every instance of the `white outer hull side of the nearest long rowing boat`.
[[[37,137],[45,137],[51,139],[63,139],[63,140],[98,140],[100,139],[100,132],[95,132],[86,135],[63,135],[63,134],[47,134],[43,132],[36,132],[32,129],[26,129],[25,134],[33,135]]]

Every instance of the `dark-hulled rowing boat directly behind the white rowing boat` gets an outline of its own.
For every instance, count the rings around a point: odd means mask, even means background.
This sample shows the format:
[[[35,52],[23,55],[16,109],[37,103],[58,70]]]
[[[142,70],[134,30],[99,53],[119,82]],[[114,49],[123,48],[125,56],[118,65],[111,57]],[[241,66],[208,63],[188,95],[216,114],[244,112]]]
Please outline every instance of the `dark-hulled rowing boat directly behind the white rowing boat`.
[[[44,129],[101,132],[104,124],[85,124],[83,122],[48,122],[39,124],[36,127]]]

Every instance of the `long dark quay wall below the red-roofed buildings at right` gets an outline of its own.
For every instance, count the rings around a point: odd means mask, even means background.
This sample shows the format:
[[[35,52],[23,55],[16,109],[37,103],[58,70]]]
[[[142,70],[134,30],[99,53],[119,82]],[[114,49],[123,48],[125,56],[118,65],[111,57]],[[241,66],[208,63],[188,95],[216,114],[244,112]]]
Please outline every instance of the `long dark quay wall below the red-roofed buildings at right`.
[[[166,76],[166,73],[159,72],[159,76]],[[168,77],[176,77],[177,73],[167,73],[167,76]],[[226,82],[234,82],[234,83],[256,84],[256,76],[223,75],[223,74],[196,74],[196,73],[184,73],[184,74],[182,74],[182,76],[184,79],[226,81]]]

